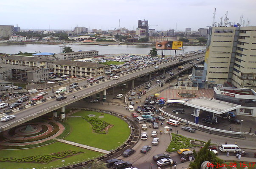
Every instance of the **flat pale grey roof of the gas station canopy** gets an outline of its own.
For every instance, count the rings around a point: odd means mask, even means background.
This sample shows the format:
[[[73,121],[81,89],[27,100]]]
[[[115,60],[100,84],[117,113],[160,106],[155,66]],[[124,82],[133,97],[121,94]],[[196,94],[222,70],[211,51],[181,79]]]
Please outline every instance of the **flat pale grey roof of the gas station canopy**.
[[[182,104],[186,106],[191,106],[196,109],[205,110],[208,112],[213,112],[215,114],[223,114],[225,112],[230,112],[232,110],[238,109],[241,106],[237,104],[228,103],[225,101],[219,101],[212,98],[194,98],[192,100],[188,100],[183,102]]]

